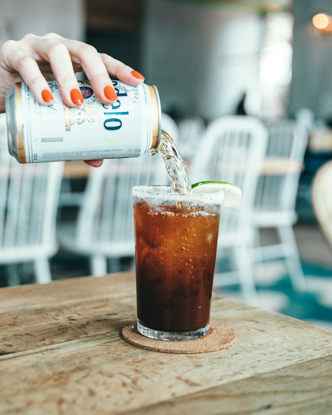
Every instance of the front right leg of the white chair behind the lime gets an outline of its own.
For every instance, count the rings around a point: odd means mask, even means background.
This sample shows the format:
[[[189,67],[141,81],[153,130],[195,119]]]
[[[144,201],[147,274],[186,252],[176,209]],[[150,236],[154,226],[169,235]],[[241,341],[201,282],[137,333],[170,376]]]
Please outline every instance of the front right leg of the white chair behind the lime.
[[[249,247],[246,245],[234,247],[234,254],[237,261],[237,268],[239,270],[239,278],[244,301],[251,305],[257,305],[258,298]]]

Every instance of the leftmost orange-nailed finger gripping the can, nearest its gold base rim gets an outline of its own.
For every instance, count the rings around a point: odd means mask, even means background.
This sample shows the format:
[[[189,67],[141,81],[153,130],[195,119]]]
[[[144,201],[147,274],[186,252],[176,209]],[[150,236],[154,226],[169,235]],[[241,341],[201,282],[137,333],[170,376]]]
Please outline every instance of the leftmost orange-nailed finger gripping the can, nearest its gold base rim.
[[[51,105],[53,102],[53,95],[37,62],[20,46],[15,45],[8,49],[4,58],[7,62],[7,69],[20,73],[24,82],[29,85],[29,88],[34,95],[34,98],[42,105]]]

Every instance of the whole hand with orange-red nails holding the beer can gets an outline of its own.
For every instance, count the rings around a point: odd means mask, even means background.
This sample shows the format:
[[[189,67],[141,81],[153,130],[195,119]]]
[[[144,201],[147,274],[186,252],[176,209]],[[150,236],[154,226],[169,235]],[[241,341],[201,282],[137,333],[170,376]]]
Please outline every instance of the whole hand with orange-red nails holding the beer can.
[[[76,73],[84,71],[96,97],[106,105],[117,100],[109,75],[129,85],[139,85],[144,76],[88,44],[65,39],[55,33],[27,34],[0,46],[0,113],[5,112],[5,94],[15,82],[26,82],[36,100],[51,105],[53,95],[47,81],[56,79],[61,98],[70,107],[79,107],[83,97]],[[103,160],[88,160],[99,167]]]

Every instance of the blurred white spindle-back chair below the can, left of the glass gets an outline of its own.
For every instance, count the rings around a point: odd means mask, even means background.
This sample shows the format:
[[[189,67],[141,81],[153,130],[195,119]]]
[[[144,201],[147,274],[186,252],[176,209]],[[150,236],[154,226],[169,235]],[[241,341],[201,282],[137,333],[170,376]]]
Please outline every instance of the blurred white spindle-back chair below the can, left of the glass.
[[[132,187],[139,184],[169,184],[158,154],[104,160],[90,170],[77,223],[59,225],[61,246],[89,256],[93,276],[107,273],[108,258],[134,256]]]

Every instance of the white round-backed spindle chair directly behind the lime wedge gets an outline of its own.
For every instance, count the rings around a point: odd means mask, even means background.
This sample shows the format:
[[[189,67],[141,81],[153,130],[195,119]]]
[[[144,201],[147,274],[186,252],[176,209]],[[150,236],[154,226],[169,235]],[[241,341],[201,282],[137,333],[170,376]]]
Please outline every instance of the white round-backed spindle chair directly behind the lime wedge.
[[[249,303],[256,303],[251,260],[254,244],[252,214],[266,142],[266,128],[259,120],[242,116],[222,117],[207,127],[190,168],[192,183],[225,181],[242,189],[242,208],[225,207],[220,214],[217,256],[221,250],[228,250],[232,273],[216,273],[214,284],[219,287],[239,282]]]

